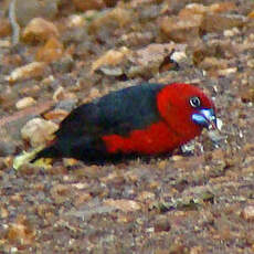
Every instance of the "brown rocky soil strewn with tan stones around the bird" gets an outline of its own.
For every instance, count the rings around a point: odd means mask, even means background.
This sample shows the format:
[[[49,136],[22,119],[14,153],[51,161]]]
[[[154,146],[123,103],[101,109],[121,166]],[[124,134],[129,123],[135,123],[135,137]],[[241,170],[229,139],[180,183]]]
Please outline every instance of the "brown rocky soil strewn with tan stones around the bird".
[[[254,253],[253,56],[251,0],[0,1],[0,253]],[[142,81],[203,88],[220,135],[13,169],[74,107]]]

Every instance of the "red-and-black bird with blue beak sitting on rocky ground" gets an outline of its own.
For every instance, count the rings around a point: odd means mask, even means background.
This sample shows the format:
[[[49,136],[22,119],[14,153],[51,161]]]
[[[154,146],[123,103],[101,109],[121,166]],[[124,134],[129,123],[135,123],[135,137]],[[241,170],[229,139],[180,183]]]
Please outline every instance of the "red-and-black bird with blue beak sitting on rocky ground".
[[[74,158],[104,165],[170,155],[202,129],[215,129],[215,106],[192,84],[141,83],[73,109],[40,158]]]

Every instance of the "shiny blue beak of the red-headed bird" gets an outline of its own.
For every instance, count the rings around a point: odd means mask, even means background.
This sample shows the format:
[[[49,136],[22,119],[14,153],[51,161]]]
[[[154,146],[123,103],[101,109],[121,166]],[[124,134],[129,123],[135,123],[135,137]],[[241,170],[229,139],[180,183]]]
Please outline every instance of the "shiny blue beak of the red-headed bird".
[[[204,108],[192,115],[192,120],[204,128],[216,129],[216,116],[212,108]]]

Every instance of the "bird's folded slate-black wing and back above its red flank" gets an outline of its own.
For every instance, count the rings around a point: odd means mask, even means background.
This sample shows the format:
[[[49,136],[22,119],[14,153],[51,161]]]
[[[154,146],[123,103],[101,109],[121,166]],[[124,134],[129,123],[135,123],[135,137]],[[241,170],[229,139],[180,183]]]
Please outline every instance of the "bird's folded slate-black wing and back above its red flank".
[[[159,120],[157,94],[160,84],[140,84],[113,92],[74,109],[60,125],[57,138],[128,135]]]

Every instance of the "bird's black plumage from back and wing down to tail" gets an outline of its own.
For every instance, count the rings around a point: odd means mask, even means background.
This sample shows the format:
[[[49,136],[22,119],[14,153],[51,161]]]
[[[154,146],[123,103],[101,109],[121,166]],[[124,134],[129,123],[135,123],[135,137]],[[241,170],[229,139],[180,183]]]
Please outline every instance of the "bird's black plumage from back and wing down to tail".
[[[128,136],[135,129],[158,121],[157,94],[162,87],[160,84],[140,84],[81,105],[61,123],[54,144],[40,151],[33,161],[43,157],[72,157],[98,163],[123,159],[126,156],[107,154],[102,137]]]

